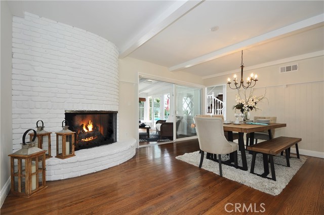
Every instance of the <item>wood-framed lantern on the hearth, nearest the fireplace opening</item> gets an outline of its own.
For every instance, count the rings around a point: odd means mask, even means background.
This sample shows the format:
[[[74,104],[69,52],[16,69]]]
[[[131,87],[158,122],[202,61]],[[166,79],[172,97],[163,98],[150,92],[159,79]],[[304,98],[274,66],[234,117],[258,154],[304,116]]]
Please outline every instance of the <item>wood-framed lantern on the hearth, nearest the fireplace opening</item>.
[[[65,123],[65,125],[63,125]],[[62,121],[62,130],[56,132],[56,157],[65,159],[74,156],[74,134],[68,130],[68,122]]]

